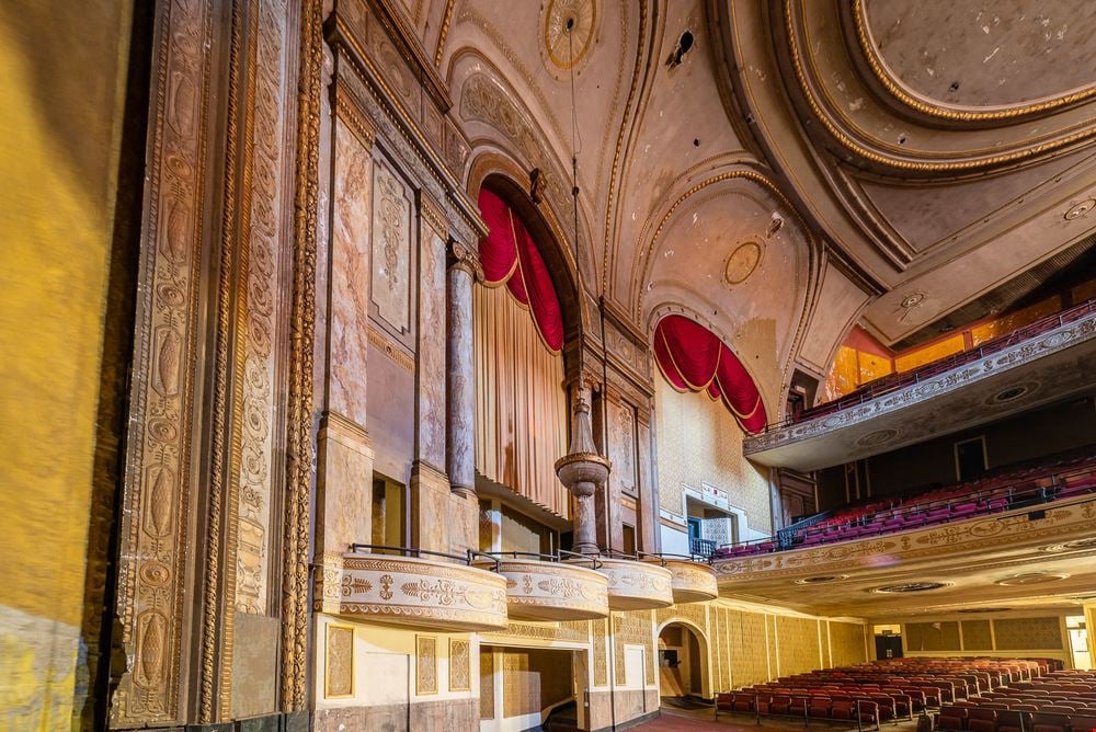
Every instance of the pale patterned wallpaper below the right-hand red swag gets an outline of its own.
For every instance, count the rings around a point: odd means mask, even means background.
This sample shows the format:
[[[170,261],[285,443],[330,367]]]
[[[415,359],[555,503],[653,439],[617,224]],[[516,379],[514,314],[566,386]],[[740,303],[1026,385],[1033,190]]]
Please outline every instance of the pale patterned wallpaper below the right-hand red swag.
[[[742,457],[742,430],[718,401],[703,393],[677,393],[655,379],[659,445],[659,499],[662,507],[681,511],[683,485],[709,483],[726,490],[731,505],[746,512],[750,528],[769,533],[768,479]]]

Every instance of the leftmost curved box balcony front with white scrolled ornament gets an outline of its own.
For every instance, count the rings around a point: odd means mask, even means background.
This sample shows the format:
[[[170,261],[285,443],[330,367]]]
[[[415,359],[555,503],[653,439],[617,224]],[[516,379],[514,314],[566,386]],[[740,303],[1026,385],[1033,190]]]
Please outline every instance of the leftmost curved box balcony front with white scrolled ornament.
[[[330,585],[335,577],[324,577],[324,608],[334,605],[331,601],[338,593],[338,606],[331,610],[357,620],[442,631],[506,627],[506,577],[502,574],[471,567],[461,557],[414,549],[398,551],[418,556],[365,553],[364,547],[355,545],[356,551],[343,554],[334,586]]]

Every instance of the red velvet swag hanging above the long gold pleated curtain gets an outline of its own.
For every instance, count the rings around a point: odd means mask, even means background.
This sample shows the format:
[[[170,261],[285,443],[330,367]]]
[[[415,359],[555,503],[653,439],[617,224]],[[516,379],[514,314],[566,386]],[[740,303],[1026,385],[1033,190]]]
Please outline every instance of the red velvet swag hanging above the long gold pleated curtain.
[[[511,295],[529,308],[545,345],[558,352],[563,347],[563,311],[540,250],[522,219],[498,195],[480,188],[479,208],[489,229],[479,243],[488,285],[506,283]]]

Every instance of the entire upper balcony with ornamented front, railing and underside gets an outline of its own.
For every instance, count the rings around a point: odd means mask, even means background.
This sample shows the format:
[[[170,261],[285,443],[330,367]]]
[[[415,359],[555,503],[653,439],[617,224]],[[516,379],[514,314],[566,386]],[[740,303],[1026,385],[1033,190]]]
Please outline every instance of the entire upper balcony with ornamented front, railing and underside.
[[[1096,300],[874,381],[744,441],[762,465],[819,470],[1000,420],[1092,389]]]

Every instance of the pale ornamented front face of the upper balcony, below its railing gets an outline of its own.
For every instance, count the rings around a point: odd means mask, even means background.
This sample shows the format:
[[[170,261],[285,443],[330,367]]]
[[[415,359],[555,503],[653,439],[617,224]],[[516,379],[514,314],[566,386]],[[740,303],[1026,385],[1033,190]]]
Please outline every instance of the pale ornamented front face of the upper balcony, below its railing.
[[[916,402],[962,389],[979,379],[1038,361],[1093,338],[1096,338],[1096,313],[1089,313],[1085,318],[1059,325],[1038,338],[926,378],[912,386],[888,392],[863,404],[747,437],[743,441],[742,453],[746,456],[755,455],[777,446],[787,446],[842,427],[859,424]]]

